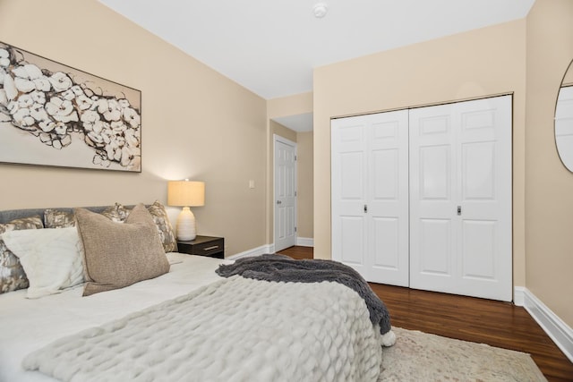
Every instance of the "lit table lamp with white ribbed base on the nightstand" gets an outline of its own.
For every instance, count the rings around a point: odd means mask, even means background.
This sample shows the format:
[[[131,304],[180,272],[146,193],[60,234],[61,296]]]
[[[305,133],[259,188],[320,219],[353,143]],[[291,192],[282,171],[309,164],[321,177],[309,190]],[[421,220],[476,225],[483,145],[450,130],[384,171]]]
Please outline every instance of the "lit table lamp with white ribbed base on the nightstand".
[[[205,205],[205,183],[169,181],[167,183],[167,206],[183,207],[177,216],[177,240],[189,241],[197,236],[195,216],[190,207]]]

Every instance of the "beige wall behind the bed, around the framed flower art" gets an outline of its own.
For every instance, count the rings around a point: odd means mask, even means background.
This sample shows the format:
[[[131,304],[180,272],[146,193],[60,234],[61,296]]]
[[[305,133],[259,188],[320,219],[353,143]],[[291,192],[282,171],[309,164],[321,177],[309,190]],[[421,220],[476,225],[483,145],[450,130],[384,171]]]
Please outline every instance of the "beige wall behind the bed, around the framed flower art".
[[[166,203],[188,177],[206,183],[199,233],[227,256],[266,243],[264,99],[96,0],[0,0],[0,39],[142,92],[141,174],[0,164],[0,209]]]

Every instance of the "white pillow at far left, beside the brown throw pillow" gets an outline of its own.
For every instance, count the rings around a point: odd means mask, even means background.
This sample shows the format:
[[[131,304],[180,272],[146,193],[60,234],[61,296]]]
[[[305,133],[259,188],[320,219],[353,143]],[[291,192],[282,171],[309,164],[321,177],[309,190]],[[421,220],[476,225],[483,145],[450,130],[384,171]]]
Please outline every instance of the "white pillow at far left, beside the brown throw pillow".
[[[2,234],[8,249],[20,259],[36,299],[84,282],[80,235],[76,227],[10,231]]]

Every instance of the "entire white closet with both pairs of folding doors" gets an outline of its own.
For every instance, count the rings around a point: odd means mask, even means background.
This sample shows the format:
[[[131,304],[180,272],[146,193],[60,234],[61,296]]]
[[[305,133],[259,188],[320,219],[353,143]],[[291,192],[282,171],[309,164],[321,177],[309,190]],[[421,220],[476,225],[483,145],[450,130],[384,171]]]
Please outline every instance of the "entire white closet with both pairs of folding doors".
[[[501,96],[333,119],[332,259],[511,301],[511,114]]]

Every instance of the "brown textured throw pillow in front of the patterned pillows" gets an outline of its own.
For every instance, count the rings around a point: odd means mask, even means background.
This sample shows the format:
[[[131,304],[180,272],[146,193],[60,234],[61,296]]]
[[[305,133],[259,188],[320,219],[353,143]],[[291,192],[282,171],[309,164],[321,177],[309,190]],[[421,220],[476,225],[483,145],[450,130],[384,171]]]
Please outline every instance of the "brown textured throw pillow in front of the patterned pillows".
[[[123,288],[169,271],[150,212],[138,204],[124,223],[75,208],[84,247],[87,283],[83,295]]]

